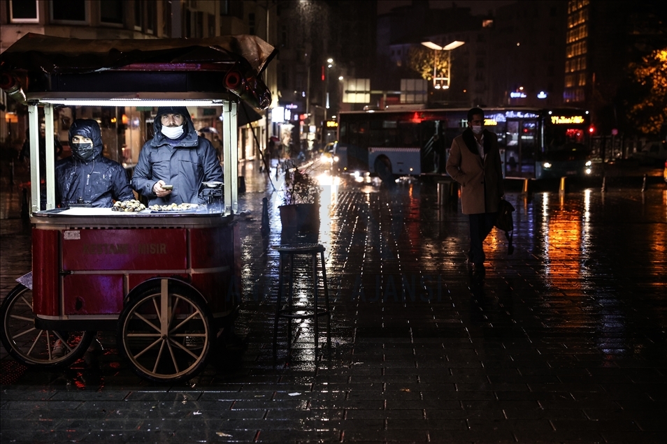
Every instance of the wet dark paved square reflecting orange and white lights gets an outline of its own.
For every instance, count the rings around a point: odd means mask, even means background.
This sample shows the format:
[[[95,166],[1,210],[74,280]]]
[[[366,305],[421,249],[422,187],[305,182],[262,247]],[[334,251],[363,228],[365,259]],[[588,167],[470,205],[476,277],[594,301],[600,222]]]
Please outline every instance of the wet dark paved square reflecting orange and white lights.
[[[66,371],[2,350],[2,443],[667,442],[663,184],[508,193],[515,253],[494,230],[485,274],[468,272],[467,218],[433,184],[325,186],[331,348],[321,335],[316,354],[312,320],[297,322],[274,361],[280,195],[255,168],[239,221],[245,347],[174,386],[135,376],[114,332]],[[29,246],[20,220],[2,221],[3,297]]]

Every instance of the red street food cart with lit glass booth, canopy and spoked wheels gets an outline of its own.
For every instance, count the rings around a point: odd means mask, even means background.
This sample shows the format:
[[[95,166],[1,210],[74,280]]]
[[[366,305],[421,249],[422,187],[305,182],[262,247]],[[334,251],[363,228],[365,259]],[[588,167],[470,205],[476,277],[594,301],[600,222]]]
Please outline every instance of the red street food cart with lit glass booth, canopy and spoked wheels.
[[[57,208],[53,139],[46,138],[45,188],[31,186],[33,269],[0,309],[1,340],[16,360],[69,366],[97,331],[115,330],[120,353],[144,378],[174,383],[203,368],[241,299],[237,106],[268,108],[259,77],[274,54],[254,36],[28,34],[0,55],[0,87],[28,108],[31,184],[41,180],[38,108],[52,134],[59,106],[222,107],[226,182],[222,210]]]

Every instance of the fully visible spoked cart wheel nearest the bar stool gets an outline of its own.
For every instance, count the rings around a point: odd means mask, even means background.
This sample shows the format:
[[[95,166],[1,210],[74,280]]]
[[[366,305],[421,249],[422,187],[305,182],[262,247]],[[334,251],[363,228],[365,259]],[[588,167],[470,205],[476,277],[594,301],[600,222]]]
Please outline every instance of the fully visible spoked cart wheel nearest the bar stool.
[[[117,341],[134,371],[155,382],[178,383],[199,373],[213,341],[212,316],[192,288],[162,279],[131,297],[120,313]]]

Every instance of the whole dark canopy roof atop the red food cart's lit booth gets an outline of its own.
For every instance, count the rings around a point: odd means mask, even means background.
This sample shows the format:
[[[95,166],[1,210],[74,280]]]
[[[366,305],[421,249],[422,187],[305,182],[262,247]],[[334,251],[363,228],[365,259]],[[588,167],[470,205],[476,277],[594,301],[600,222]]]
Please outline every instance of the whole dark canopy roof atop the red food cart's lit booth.
[[[233,93],[266,109],[260,75],[277,50],[257,36],[83,40],[26,34],[0,54],[0,87],[43,93]],[[46,96],[49,96],[48,94]]]

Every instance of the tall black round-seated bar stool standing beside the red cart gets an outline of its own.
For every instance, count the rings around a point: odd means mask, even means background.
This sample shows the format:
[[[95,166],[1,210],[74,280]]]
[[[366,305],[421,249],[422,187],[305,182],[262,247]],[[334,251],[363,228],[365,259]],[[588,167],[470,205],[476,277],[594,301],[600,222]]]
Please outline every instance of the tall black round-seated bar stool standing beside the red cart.
[[[327,286],[327,269],[324,267],[324,246],[321,244],[289,244],[273,246],[275,251],[280,253],[280,265],[278,272],[278,300],[275,304],[275,320],[273,321],[273,357],[275,357],[275,348],[278,343],[278,320],[287,318],[287,347],[292,343],[292,319],[313,319],[315,327],[315,354],[317,355],[317,346],[320,344],[319,330],[317,320],[320,316],[327,316],[327,345],[331,346],[331,312],[329,311],[329,288]],[[322,267],[322,283],[324,284],[324,310],[320,309],[317,295],[317,254],[320,254]],[[313,267],[313,304],[311,306],[294,306],[292,304],[292,295],[294,293],[294,256],[310,256],[310,262]],[[287,306],[283,306],[283,274],[284,265],[289,260],[289,286],[287,287]]]

